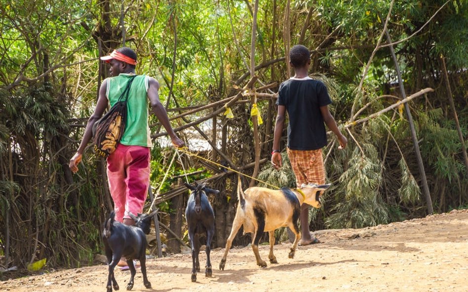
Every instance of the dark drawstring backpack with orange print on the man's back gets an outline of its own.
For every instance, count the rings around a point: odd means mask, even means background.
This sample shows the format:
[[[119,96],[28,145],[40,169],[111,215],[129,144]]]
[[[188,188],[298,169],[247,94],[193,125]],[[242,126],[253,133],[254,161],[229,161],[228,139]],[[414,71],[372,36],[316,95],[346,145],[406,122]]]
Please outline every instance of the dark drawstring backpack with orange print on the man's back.
[[[127,121],[127,98],[135,76],[128,81],[125,90],[118,97],[111,109],[93,125],[94,152],[101,157],[108,157],[116,151]]]

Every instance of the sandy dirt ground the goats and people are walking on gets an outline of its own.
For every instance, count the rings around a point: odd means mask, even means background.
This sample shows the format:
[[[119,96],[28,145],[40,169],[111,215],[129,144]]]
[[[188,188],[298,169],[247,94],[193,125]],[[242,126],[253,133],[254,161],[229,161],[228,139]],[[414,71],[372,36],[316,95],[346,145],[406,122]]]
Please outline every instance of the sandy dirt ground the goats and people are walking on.
[[[260,255],[268,267],[255,263],[250,248],[232,249],[224,271],[218,269],[223,249],[211,252],[213,277],[204,269],[191,282],[190,255],[148,260],[152,289],[143,286],[137,269],[132,291],[320,291],[320,292],[467,292],[468,210],[452,211],[385,226],[317,231],[321,243],[298,247],[288,259],[291,244],[274,247],[277,264]],[[205,254],[200,253],[203,267]],[[102,292],[107,266],[55,271],[0,282],[0,291]],[[130,273],[116,270],[120,290]]]

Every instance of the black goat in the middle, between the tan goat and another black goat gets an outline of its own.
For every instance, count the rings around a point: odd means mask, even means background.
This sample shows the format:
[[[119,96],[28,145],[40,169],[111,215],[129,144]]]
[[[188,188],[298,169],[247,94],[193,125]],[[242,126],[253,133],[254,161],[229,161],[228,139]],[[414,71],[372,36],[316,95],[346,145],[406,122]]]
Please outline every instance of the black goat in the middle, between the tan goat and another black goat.
[[[218,195],[219,191],[209,189],[205,184],[197,184],[195,187],[185,183],[192,193],[187,202],[187,209],[185,210],[185,218],[189,229],[189,240],[192,246],[192,282],[196,281],[196,272],[200,271],[200,262],[198,261],[198,254],[200,252],[199,236],[206,233],[206,266],[205,276],[211,277],[211,261],[210,261],[210,245],[211,239],[214,235],[214,212],[213,208],[208,201],[206,194]]]

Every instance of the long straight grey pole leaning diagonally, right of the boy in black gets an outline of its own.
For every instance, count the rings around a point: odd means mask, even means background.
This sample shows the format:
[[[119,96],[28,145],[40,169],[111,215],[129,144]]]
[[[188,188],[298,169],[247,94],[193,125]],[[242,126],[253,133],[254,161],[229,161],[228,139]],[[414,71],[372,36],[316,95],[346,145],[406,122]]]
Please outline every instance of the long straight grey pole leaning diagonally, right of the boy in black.
[[[385,28],[385,34],[387,35],[387,39],[388,39],[388,41],[390,43],[390,46],[389,46],[390,53],[391,53],[391,57],[393,59],[393,63],[395,64],[396,74],[398,75],[398,84],[400,86],[401,96],[403,97],[403,99],[405,99],[406,98],[406,93],[405,93],[405,88],[403,86],[403,80],[401,78],[400,67],[398,65],[398,61],[396,60],[395,51],[393,50],[393,45],[391,45],[390,33],[389,33],[389,30],[387,28]],[[410,112],[408,103],[405,102],[404,104],[405,104],[406,115],[408,116],[408,123],[409,123],[410,130],[411,130],[411,137],[413,138],[413,144],[414,144],[414,149],[415,149],[415,152],[416,152],[416,159],[418,161],[419,172],[421,174],[421,181],[422,181],[422,184],[423,184],[423,192],[424,192],[424,195],[425,195],[425,198],[426,198],[426,204],[428,206],[428,213],[432,214],[434,212],[434,210],[432,208],[432,200],[431,200],[430,194],[429,194],[428,180],[426,178],[426,172],[424,170],[423,159],[421,157],[421,151],[419,149],[418,137],[416,136],[416,130],[414,128],[413,117],[411,116],[411,112]]]

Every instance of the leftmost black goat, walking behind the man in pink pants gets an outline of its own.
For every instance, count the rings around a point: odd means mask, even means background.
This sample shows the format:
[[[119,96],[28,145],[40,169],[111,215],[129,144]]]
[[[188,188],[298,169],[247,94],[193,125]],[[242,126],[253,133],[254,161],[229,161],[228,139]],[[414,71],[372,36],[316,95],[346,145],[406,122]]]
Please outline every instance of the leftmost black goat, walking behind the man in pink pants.
[[[146,246],[148,242],[146,241],[145,234],[150,233],[151,219],[155,214],[156,211],[149,215],[144,213],[138,214],[138,216],[130,213],[130,217],[135,221],[135,226],[127,226],[115,221],[116,214],[112,211],[104,223],[102,239],[109,264],[107,292],[112,292],[112,287],[114,287],[114,290],[118,290],[117,281],[114,277],[114,268],[122,256],[125,257],[131,273],[127,290],[133,288],[133,278],[136,274],[135,266],[133,265],[134,259],[140,260],[143,284],[146,288],[151,288],[151,283],[146,276]],[[111,286],[111,281],[113,286]]]

